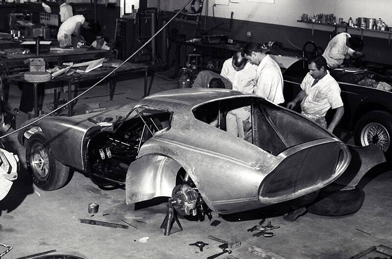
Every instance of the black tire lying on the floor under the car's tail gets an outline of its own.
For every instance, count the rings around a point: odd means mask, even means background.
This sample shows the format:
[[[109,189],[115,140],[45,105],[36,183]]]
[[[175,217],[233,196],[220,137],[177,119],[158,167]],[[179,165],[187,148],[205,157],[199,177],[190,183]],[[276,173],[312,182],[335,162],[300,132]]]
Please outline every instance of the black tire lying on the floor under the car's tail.
[[[316,201],[307,206],[308,212],[323,216],[343,216],[361,209],[365,200],[365,192],[356,187],[352,190],[322,190]]]

